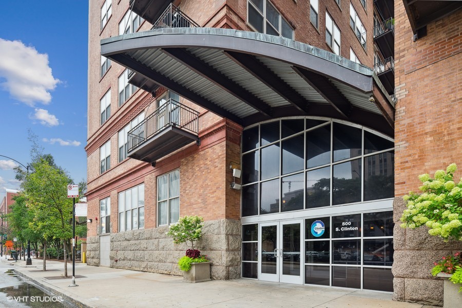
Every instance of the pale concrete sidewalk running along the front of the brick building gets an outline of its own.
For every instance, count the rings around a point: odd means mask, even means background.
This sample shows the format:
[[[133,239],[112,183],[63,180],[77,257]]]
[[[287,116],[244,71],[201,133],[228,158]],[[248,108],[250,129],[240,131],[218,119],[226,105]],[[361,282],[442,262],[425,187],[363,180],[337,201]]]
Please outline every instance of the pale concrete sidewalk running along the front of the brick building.
[[[1,260],[14,267],[26,280],[46,289],[51,295],[61,296],[78,307],[434,307],[392,301],[387,293],[354,291],[328,287],[314,287],[249,279],[183,282],[182,277],[141,271],[75,264],[75,282],[61,278],[62,262],[42,260]],[[68,264],[72,275],[72,264]],[[84,276],[78,278],[79,276]]]

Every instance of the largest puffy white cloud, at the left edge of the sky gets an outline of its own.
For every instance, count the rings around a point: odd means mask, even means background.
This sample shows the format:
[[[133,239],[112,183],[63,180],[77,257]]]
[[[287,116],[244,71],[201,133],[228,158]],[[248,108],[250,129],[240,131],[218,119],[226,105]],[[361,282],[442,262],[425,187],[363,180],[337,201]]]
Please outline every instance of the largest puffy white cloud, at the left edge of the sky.
[[[29,106],[48,104],[50,91],[61,82],[53,77],[46,53],[4,39],[0,39],[0,78],[6,79],[1,85],[13,98]]]

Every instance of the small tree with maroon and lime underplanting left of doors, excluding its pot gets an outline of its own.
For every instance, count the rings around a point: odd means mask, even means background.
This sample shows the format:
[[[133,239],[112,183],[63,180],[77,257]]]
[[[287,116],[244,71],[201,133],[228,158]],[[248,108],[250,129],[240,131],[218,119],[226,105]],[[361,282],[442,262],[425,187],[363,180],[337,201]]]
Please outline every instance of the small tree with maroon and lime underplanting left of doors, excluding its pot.
[[[188,243],[191,249],[186,250],[186,255],[181,257],[178,266],[183,271],[191,269],[191,263],[208,262],[207,256],[194,248],[194,244],[202,237],[202,223],[200,216],[184,216],[178,223],[170,225],[167,235],[174,239],[175,244]]]

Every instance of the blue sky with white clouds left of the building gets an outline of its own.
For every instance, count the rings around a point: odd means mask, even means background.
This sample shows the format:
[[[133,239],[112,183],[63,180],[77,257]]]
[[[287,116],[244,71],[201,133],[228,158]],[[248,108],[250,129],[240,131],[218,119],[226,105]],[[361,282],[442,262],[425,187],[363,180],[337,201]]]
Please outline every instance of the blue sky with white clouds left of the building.
[[[75,184],[86,180],[88,1],[10,1],[0,29],[0,155],[28,164],[30,129]],[[11,167],[0,156],[0,200],[19,187]]]

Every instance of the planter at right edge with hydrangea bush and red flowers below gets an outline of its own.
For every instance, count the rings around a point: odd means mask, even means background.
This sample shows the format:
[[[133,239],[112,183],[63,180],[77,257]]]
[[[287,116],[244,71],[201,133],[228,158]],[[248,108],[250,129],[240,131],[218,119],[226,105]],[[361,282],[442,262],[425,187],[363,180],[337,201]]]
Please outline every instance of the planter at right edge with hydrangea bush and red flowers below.
[[[434,178],[429,174],[419,176],[422,186],[421,194],[410,192],[403,197],[407,201],[407,209],[401,215],[401,227],[415,229],[428,227],[430,235],[440,237],[443,241],[462,241],[462,179],[454,183],[456,164],[435,172]],[[444,304],[462,302],[462,260],[460,252],[454,256],[442,258],[435,262],[432,275],[449,278],[445,280]],[[450,288],[448,288],[450,287]],[[455,290],[455,292],[454,292]]]

